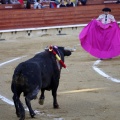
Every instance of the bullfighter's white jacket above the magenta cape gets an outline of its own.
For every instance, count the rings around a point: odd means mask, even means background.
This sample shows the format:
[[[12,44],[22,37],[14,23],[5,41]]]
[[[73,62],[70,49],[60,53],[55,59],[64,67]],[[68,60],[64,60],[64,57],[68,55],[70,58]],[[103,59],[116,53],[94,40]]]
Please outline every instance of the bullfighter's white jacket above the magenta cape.
[[[114,18],[114,16],[111,15],[111,14],[107,14],[107,17],[106,17],[105,14],[102,14],[96,20],[101,21],[103,24],[108,24],[108,23],[116,21],[115,18]]]

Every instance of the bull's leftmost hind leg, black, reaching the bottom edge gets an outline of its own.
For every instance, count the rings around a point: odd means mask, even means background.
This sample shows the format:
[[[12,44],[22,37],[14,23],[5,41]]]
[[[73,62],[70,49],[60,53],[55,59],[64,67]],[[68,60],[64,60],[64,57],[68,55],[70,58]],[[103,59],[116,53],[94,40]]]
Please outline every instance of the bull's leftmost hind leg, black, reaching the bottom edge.
[[[19,99],[20,95],[13,95],[13,101],[15,104],[15,108],[16,108],[16,115],[17,117],[20,117],[20,120],[24,120],[25,119],[25,110],[24,107],[22,106],[22,103]]]

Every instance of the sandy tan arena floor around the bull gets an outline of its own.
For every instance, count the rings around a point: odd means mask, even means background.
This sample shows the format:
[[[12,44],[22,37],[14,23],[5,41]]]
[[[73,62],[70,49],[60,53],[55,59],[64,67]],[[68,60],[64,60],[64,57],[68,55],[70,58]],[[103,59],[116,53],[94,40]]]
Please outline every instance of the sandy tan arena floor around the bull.
[[[12,101],[10,85],[18,63],[34,56],[48,45],[73,47],[78,44],[78,35],[44,35],[0,41],[0,64],[27,55],[0,67],[0,95]],[[65,59],[69,72],[62,69],[58,88],[60,109],[53,109],[51,91],[46,91],[43,106],[38,104],[38,99],[31,102],[33,109],[40,111],[40,114],[32,119],[26,111],[26,120],[120,120],[120,83],[112,82],[95,72],[92,66],[97,60],[78,46],[76,52]],[[120,57],[103,60],[98,68],[109,76],[120,79]],[[23,96],[21,100],[25,105]],[[0,120],[18,120],[14,106],[1,99]]]

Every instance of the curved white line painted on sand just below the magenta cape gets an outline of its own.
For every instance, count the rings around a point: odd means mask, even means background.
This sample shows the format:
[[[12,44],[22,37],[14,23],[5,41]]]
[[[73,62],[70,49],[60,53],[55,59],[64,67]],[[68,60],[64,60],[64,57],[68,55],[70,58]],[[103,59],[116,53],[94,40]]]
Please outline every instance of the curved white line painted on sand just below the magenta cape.
[[[97,65],[101,62],[101,60],[97,60],[95,61],[95,63],[93,64],[93,69],[99,73],[100,75],[102,75],[103,77],[107,78],[108,80],[111,80],[113,82],[116,82],[116,83],[120,83],[120,80],[119,79],[116,79],[116,78],[113,78],[111,76],[109,76],[108,74],[106,74],[105,72],[103,72],[102,70],[100,70],[100,68],[97,67]]]

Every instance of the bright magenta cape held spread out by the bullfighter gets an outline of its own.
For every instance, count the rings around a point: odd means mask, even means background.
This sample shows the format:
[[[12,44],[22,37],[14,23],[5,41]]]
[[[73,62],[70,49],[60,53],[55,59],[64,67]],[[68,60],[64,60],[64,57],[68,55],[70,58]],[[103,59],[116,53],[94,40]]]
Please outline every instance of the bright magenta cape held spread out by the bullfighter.
[[[120,29],[116,22],[92,20],[79,34],[81,46],[91,55],[109,59],[120,54]]]

